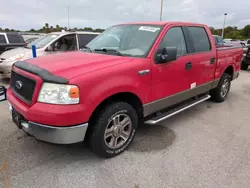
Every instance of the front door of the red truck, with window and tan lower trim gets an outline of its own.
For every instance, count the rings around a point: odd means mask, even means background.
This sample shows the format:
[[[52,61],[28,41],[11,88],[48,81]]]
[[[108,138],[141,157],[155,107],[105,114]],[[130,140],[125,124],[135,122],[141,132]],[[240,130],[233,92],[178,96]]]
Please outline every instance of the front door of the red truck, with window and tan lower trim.
[[[157,50],[164,47],[176,47],[177,60],[157,64],[152,58],[151,113],[185,100],[189,97],[185,92],[195,87],[192,57],[182,27],[167,30]]]

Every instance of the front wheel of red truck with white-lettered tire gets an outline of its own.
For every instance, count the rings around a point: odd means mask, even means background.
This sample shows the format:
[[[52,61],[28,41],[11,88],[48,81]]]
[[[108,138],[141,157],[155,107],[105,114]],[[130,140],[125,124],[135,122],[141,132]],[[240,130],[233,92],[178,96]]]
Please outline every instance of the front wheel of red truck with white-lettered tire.
[[[128,103],[115,102],[104,107],[95,118],[90,148],[100,157],[122,153],[132,142],[138,127],[138,115]]]

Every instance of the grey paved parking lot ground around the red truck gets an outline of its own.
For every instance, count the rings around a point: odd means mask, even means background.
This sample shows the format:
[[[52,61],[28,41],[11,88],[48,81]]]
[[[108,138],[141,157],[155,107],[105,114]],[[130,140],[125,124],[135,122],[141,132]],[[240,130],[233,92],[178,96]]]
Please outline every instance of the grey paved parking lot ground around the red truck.
[[[127,151],[104,160],[81,144],[51,145],[26,136],[2,102],[0,187],[249,187],[249,104],[250,71],[244,71],[226,102],[207,101],[145,125]]]

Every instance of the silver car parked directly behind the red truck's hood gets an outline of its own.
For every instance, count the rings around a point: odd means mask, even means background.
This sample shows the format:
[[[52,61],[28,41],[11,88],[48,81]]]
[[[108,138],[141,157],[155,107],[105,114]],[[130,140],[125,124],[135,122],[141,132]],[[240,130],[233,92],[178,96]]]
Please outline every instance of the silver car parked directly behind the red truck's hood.
[[[100,33],[94,32],[53,32],[42,36],[25,47],[5,51],[0,55],[0,78],[10,78],[11,67],[18,60],[32,58],[32,45],[37,56],[44,56],[83,48]]]

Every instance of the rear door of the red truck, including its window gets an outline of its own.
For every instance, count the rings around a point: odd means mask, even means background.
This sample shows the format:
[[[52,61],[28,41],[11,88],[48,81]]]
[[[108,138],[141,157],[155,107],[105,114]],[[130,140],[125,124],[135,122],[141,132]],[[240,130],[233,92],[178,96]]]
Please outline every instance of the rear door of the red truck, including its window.
[[[187,27],[191,44],[193,45],[192,63],[195,74],[195,85],[201,87],[201,92],[212,85],[216,68],[216,48],[209,30],[202,26]],[[211,37],[209,37],[211,36]],[[213,43],[212,43],[213,42]]]

